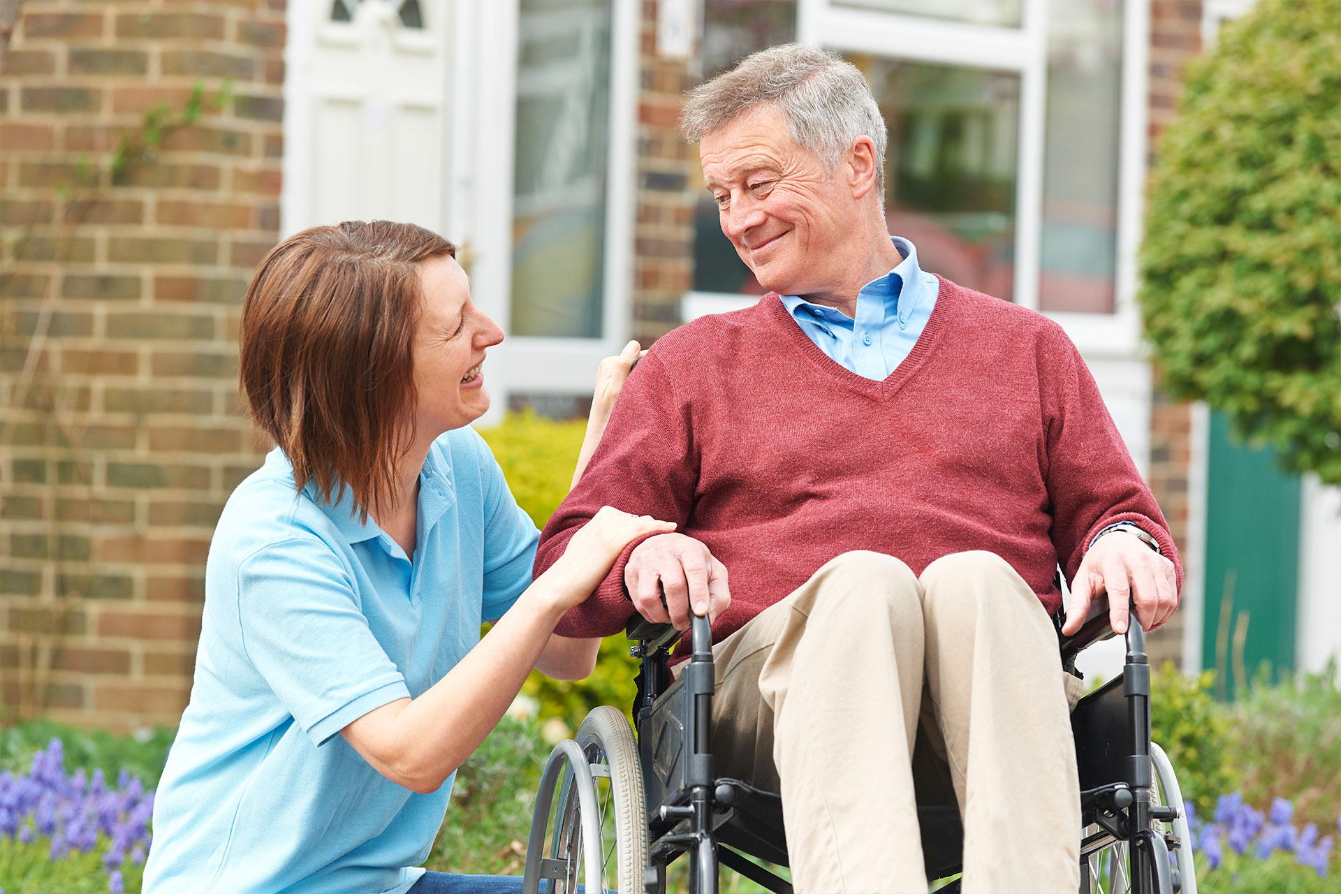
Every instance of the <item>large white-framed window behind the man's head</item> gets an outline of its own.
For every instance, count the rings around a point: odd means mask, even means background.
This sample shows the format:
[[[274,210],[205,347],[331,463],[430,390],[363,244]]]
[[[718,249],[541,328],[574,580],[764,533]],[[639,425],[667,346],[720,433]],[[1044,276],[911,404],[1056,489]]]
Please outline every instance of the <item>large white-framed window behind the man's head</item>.
[[[704,76],[789,40],[841,52],[889,127],[890,233],[925,269],[1047,312],[1113,314],[1134,213],[1124,134],[1141,130],[1122,119],[1122,36],[1144,9],[1132,3],[708,0]],[[762,292],[709,201],[696,208],[693,288]]]

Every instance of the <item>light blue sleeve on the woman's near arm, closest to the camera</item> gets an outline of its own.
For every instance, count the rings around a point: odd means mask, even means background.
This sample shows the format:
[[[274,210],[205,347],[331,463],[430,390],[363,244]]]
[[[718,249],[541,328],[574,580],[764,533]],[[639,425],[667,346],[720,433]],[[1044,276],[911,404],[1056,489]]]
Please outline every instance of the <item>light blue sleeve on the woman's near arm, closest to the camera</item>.
[[[237,617],[247,657],[315,745],[410,697],[353,578],[315,537],[270,544],[240,563]]]

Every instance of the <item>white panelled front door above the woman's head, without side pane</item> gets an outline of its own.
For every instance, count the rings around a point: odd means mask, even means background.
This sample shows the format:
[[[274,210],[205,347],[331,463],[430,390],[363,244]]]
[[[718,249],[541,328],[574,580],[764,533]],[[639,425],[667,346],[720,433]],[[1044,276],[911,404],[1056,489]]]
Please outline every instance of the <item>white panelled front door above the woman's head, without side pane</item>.
[[[288,9],[284,235],[377,218],[443,232],[451,0]]]

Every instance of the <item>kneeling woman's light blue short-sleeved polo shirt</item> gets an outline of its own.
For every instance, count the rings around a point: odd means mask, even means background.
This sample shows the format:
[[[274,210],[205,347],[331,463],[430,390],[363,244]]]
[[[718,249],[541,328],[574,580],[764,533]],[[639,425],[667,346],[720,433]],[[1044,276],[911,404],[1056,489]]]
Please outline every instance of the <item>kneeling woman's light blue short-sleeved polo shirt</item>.
[[[145,894],[402,894],[443,823],[339,730],[414,698],[531,582],[539,533],[471,429],[420,473],[414,562],[279,450],[215,529],[196,681],[154,803]]]

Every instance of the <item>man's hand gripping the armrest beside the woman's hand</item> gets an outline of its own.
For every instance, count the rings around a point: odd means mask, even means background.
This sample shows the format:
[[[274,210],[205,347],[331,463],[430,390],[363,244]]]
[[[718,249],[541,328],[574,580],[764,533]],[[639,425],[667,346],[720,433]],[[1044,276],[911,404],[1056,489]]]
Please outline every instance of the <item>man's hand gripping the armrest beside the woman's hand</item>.
[[[695,614],[716,619],[731,604],[727,567],[708,547],[683,533],[658,533],[640,543],[624,567],[624,586],[640,615],[680,630],[689,629],[691,606]]]

